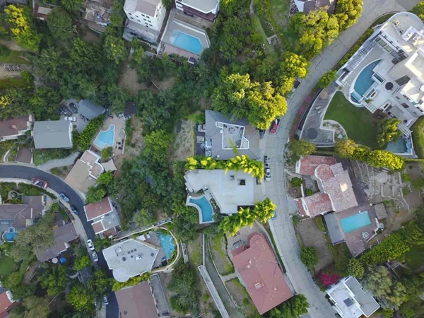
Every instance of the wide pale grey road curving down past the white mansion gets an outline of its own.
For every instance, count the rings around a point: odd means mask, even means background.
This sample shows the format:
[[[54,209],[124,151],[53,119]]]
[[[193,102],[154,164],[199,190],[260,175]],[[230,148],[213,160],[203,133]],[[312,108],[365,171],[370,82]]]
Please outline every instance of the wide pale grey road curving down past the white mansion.
[[[419,2],[419,0],[408,0],[408,2],[411,1]],[[337,61],[346,54],[376,18],[384,13],[394,11],[405,11],[405,9],[394,0],[364,0],[363,16],[356,25],[343,32],[333,45],[324,49],[319,56],[312,60],[309,75],[302,80],[299,88],[288,98],[288,112],[281,119],[277,134],[268,136],[265,154],[270,158],[273,180],[265,182],[266,196],[278,206],[277,219],[270,222],[271,230],[293,287],[297,293],[304,294],[310,303],[309,314],[305,317],[334,317],[335,312],[300,261],[298,240],[289,216],[289,213],[294,213],[295,206],[293,206],[293,200],[287,198],[287,189],[285,189],[283,161],[285,143],[288,141],[291,125],[300,105],[317,84],[319,78],[336,65]]]

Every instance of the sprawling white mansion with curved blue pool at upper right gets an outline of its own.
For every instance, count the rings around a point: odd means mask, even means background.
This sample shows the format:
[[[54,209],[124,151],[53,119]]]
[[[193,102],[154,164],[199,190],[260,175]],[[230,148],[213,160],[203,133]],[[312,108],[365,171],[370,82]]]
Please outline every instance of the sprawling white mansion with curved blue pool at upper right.
[[[399,130],[408,140],[409,128],[424,114],[423,45],[423,21],[413,13],[396,13],[377,25],[337,72],[336,83],[350,102],[400,119]],[[411,150],[411,141],[405,147]]]

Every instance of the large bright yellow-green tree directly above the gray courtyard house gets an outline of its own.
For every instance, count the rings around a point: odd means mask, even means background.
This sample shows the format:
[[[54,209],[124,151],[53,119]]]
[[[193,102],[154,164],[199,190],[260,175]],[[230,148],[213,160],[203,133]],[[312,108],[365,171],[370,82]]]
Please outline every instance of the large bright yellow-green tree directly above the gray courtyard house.
[[[247,117],[258,129],[268,129],[277,117],[287,110],[283,96],[274,93],[271,82],[251,82],[249,74],[226,76],[212,96],[212,106],[225,116]]]

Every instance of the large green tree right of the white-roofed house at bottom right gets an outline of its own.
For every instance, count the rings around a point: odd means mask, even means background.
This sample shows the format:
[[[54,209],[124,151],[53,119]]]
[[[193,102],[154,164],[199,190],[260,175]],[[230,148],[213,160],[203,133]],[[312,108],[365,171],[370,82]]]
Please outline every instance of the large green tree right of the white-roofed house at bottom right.
[[[363,288],[370,290],[382,308],[398,310],[406,301],[405,286],[399,281],[392,280],[389,270],[384,266],[377,266],[367,272],[363,279]]]

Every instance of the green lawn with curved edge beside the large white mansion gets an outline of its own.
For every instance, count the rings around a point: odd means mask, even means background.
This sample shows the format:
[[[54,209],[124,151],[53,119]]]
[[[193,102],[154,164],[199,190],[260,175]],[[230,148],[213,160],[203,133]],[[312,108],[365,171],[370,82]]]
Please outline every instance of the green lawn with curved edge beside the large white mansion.
[[[332,119],[341,124],[349,139],[372,149],[379,148],[377,144],[377,119],[372,117],[365,107],[355,107],[343,93],[337,92],[326,110],[324,119]]]

